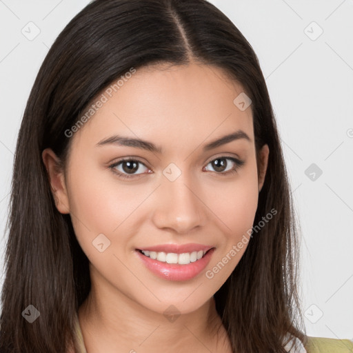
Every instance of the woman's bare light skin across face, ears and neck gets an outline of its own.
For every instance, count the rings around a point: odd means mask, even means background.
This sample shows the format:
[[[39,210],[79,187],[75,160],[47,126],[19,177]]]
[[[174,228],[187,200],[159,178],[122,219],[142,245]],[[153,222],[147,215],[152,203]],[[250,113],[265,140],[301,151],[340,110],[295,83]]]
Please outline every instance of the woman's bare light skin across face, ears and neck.
[[[79,308],[88,353],[231,352],[213,295],[246,245],[212,279],[205,272],[252,228],[269,154],[264,145],[256,165],[251,106],[241,111],[233,103],[241,92],[239,83],[210,65],[141,68],[71,137],[65,170],[55,168],[52,150],[43,151],[57,209],[70,213],[90,261],[92,290]],[[236,130],[250,141],[203,151]],[[113,134],[150,141],[163,153],[97,146]],[[123,157],[145,166],[139,164],[135,177],[119,178],[109,165]],[[211,163],[217,157],[245,163],[221,175]],[[236,167],[225,161],[227,170]],[[170,163],[181,170],[175,181],[162,174]],[[115,170],[123,173],[123,165]],[[103,252],[92,245],[98,234],[110,240]],[[135,252],[163,243],[201,243],[215,251],[194,279],[167,281],[145,268]],[[170,305],[181,314],[172,322],[163,315]]]

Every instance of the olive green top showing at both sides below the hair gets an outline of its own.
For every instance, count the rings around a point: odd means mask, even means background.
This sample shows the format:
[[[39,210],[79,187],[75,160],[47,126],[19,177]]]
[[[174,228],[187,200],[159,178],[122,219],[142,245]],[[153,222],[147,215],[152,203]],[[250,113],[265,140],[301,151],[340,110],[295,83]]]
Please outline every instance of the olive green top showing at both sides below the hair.
[[[79,343],[79,353],[87,353],[85,343],[79,325],[78,316],[76,317],[76,336]],[[353,353],[353,341],[349,339],[325,339],[323,337],[307,337],[305,348],[301,343],[296,350],[288,350],[289,353]],[[287,346],[286,346],[287,347]]]

